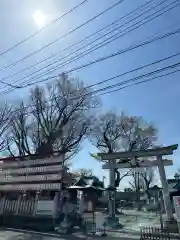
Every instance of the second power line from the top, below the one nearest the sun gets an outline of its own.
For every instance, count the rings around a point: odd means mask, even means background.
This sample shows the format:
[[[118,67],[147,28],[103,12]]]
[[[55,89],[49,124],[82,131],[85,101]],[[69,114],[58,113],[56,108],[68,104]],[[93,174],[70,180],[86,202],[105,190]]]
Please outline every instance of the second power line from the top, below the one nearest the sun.
[[[96,18],[98,18],[98,17],[100,17],[101,15],[105,14],[105,13],[108,12],[109,10],[113,9],[114,7],[116,7],[117,5],[119,5],[120,3],[122,3],[123,1],[124,1],[124,0],[120,0],[120,1],[116,2],[115,4],[113,4],[113,5],[111,5],[110,7],[106,8],[105,10],[103,10],[102,12],[100,12],[99,14],[97,14],[97,15],[95,15],[94,17],[90,18],[90,19],[87,20],[86,22],[82,23],[81,25],[77,26],[76,28],[72,29],[71,31],[67,32],[67,33],[64,34],[63,36],[55,39],[54,41],[52,41],[52,42],[50,42],[50,43],[48,43],[48,44],[45,45],[44,47],[42,47],[42,48],[40,48],[40,49],[38,49],[38,50],[36,50],[36,51],[34,51],[34,52],[26,55],[25,57],[17,60],[16,62],[11,63],[10,65],[7,65],[7,66],[1,68],[0,71],[3,71],[3,70],[5,70],[5,69],[7,69],[7,68],[11,68],[11,67],[17,65],[18,63],[23,62],[25,59],[27,59],[27,58],[29,58],[29,57],[31,57],[31,56],[33,56],[33,55],[41,52],[41,51],[44,50],[45,48],[50,47],[50,46],[53,45],[54,43],[62,40],[63,38],[67,37],[68,35],[72,34],[72,33],[75,32],[75,31],[77,31],[78,29],[84,27],[86,24],[92,22],[92,21],[95,20]]]

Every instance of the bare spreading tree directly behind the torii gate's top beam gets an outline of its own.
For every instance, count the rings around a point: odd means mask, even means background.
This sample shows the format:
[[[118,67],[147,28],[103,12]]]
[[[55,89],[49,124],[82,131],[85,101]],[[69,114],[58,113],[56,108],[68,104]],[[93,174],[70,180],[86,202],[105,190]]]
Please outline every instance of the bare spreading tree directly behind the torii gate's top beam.
[[[127,116],[123,112],[120,115],[108,112],[96,120],[90,141],[101,152],[108,153],[147,149],[156,141],[156,129],[141,117]],[[117,182],[120,183],[131,174],[129,169],[121,170]]]

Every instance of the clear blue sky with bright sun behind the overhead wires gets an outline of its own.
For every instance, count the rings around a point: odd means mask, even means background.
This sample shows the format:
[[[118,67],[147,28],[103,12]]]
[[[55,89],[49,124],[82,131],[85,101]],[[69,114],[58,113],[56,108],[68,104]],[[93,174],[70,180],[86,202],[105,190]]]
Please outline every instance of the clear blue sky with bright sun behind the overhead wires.
[[[58,21],[53,26],[47,28],[45,31],[36,35],[34,38],[30,39],[26,43],[23,43],[7,54],[0,56],[0,69],[17,61],[18,59],[21,59],[27,54],[38,50],[53,41],[55,38],[62,36],[89,18],[95,16],[115,2],[117,2],[117,0],[89,0],[74,13],[63,18],[63,20]],[[155,1],[155,4],[158,2],[160,2],[160,0]],[[172,0],[167,1],[169,4],[172,2]],[[37,26],[32,17],[35,11],[41,11],[45,16],[45,22],[49,23],[78,3],[80,3],[79,0],[1,0],[0,52],[5,51],[39,29],[39,26]],[[53,46],[44,49],[42,52],[28,58],[21,64],[17,64],[12,68],[1,71],[1,79],[36,63],[38,60],[42,60],[44,57],[48,57],[49,55],[68,47],[75,41],[78,41],[106,24],[111,23],[113,20],[116,20],[121,15],[123,16],[143,3],[145,3],[144,0],[124,0],[122,4],[118,5],[113,10],[64,38],[62,41],[58,41]],[[119,40],[114,41],[108,46],[105,46],[94,53],[90,53],[82,60],[78,60],[64,68],[56,70],[53,75],[98,57],[103,57],[122,48],[126,48],[129,45],[147,39],[154,34],[163,34],[167,31],[180,27],[179,11],[180,6],[163,16],[154,19],[152,22],[145,24],[136,31],[133,31]],[[72,76],[82,79],[87,85],[92,84],[121,72],[128,71],[132,68],[136,68],[177,53],[180,51],[179,42],[180,34],[177,34],[87,67],[83,70],[76,71],[72,74]],[[67,53],[68,51],[66,54]],[[156,70],[157,68],[163,67],[167,64],[175,63],[179,60],[178,58],[179,57],[169,60],[166,63],[161,63],[157,66],[148,68],[148,71]],[[33,70],[34,69],[31,69],[25,72],[25,74],[29,74]],[[142,73],[144,72],[138,71],[136,73],[128,74],[128,76],[112,81],[112,84],[121,80],[123,81],[127,78],[135,77]],[[8,79],[7,81],[11,83],[23,76],[23,74],[20,74],[15,78]],[[179,73],[177,73],[169,77],[127,88],[113,94],[104,95],[102,96],[102,111],[114,110],[117,113],[120,113],[123,110],[130,115],[142,116],[145,120],[152,122],[158,128],[160,144],[169,145],[180,143],[179,77]],[[108,84],[104,86],[107,85]],[[0,88],[0,91],[6,89],[4,88],[4,85],[0,85]],[[25,99],[27,93],[28,89],[16,90],[9,95],[2,96],[2,100],[8,99],[8,101],[14,102],[20,96]],[[101,165],[89,156],[89,152],[96,151],[97,150],[86,141],[82,146],[81,152],[73,159],[72,167],[74,169],[92,168],[94,173],[101,178],[103,175],[107,176],[108,173],[101,169]],[[172,157],[174,160],[174,166],[168,167],[167,169],[168,177],[172,177],[174,172],[180,167],[179,155],[180,150],[177,150],[175,155]],[[124,185],[126,185],[125,182]]]

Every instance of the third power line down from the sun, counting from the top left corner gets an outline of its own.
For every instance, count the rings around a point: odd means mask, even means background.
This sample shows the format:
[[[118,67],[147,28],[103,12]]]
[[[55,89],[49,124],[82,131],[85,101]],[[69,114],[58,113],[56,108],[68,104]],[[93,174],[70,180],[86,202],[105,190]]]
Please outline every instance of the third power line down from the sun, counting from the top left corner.
[[[151,2],[152,2],[152,0],[147,1],[145,4],[141,5],[140,7],[136,8],[136,9],[134,9],[133,11],[129,12],[128,14],[126,14],[126,15],[118,18],[117,20],[115,20],[115,21],[113,21],[112,23],[106,25],[105,27],[100,28],[98,31],[95,31],[94,33],[88,35],[87,37],[81,39],[80,41],[77,41],[76,43],[74,43],[74,44],[72,44],[72,45],[70,45],[70,46],[62,49],[60,52],[55,53],[55,54],[52,54],[52,55],[50,55],[49,57],[47,57],[47,58],[45,58],[45,59],[43,59],[43,60],[41,60],[41,61],[39,61],[39,62],[31,65],[31,66],[29,66],[29,67],[26,67],[26,68],[24,68],[24,69],[16,72],[15,74],[12,74],[12,75],[9,75],[9,76],[7,76],[7,77],[4,77],[4,78],[2,78],[0,81],[4,81],[4,80],[7,80],[7,79],[9,79],[9,78],[13,78],[14,76],[16,76],[16,75],[18,75],[18,74],[20,74],[20,73],[22,73],[22,72],[24,72],[24,71],[26,71],[26,70],[29,70],[29,69],[31,69],[31,68],[34,68],[35,66],[37,66],[37,65],[39,65],[39,64],[41,64],[41,63],[43,63],[43,62],[45,62],[45,61],[47,61],[47,60],[49,60],[49,59],[51,59],[51,58],[54,58],[55,56],[58,56],[58,55],[62,54],[64,51],[69,50],[70,48],[72,48],[72,47],[74,47],[74,46],[76,46],[76,45],[78,45],[78,44],[80,44],[80,43],[83,43],[83,42],[86,41],[87,39],[89,39],[89,38],[91,38],[92,36],[100,33],[101,31],[105,30],[106,28],[108,28],[108,27],[110,27],[110,26],[113,26],[114,24],[117,24],[120,20],[124,19],[125,17],[128,17],[129,15],[137,12],[138,10],[141,10],[143,7],[148,6],[148,4],[151,3]],[[108,34],[109,34],[109,32],[108,32]],[[97,40],[97,39],[96,39],[96,40]],[[91,42],[91,43],[92,43],[92,42]],[[90,44],[91,44],[91,43],[90,43]],[[63,57],[63,58],[64,58],[64,57]],[[6,83],[4,83],[4,84],[6,84]]]

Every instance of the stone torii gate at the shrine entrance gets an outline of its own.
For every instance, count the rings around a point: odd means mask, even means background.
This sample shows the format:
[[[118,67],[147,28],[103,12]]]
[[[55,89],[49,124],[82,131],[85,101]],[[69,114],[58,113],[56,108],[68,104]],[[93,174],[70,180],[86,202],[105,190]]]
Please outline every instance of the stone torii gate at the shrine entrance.
[[[154,148],[141,151],[131,152],[116,152],[116,153],[98,153],[98,157],[102,161],[107,161],[102,168],[109,169],[110,187],[115,189],[115,169],[117,168],[142,168],[142,167],[154,167],[157,166],[159,169],[159,175],[163,188],[163,199],[167,215],[167,221],[173,219],[172,204],[169,197],[168,184],[165,174],[165,166],[173,165],[172,160],[162,159],[164,155],[172,155],[173,151],[178,148],[178,145],[171,145],[162,148]],[[139,157],[156,157],[156,160],[138,160]],[[117,163],[118,161],[118,163]],[[122,161],[122,163],[121,163]],[[115,191],[115,190],[114,190]],[[115,199],[110,201],[109,205],[109,216],[115,219]]]

